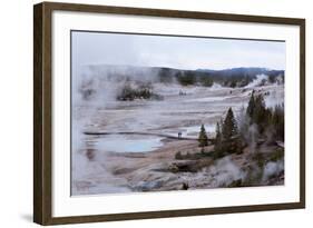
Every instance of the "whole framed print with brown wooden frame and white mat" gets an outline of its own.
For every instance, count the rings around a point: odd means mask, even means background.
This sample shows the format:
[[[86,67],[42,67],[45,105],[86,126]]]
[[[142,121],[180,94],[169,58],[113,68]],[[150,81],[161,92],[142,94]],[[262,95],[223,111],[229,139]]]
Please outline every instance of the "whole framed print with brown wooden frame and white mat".
[[[305,20],[35,6],[41,225],[305,207]]]

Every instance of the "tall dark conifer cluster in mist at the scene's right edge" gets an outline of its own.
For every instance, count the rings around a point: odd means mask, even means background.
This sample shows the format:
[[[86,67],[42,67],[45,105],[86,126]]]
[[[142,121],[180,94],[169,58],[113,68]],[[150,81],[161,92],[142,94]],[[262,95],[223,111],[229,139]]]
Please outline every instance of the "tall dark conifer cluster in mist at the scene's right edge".
[[[237,119],[229,108],[225,119],[216,123],[216,157],[241,153],[244,147],[255,147],[260,141],[284,141],[284,103],[267,108],[263,95],[253,91],[247,108],[241,110]]]

